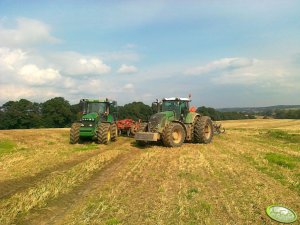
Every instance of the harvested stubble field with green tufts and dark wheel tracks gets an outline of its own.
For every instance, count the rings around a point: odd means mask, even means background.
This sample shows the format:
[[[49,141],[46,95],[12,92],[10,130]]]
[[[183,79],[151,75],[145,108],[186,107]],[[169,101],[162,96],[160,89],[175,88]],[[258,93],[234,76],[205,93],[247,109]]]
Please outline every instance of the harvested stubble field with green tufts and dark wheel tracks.
[[[300,215],[300,120],[223,126],[209,145],[173,149],[0,131],[0,224],[278,224],[272,204]]]

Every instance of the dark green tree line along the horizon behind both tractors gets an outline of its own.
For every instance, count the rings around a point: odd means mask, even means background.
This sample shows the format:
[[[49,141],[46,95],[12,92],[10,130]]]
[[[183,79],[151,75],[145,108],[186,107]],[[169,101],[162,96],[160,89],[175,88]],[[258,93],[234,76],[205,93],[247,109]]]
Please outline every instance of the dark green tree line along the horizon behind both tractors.
[[[118,119],[131,118],[147,121],[154,113],[143,102],[132,102],[118,106]],[[56,97],[43,103],[26,99],[8,101],[0,107],[0,129],[59,128],[70,127],[80,117],[79,104],[71,105],[63,97]],[[240,112],[219,112],[214,108],[198,107],[197,112],[213,120],[253,119],[254,114]],[[269,115],[266,113],[266,115]],[[274,118],[300,119],[300,110],[277,110]]]

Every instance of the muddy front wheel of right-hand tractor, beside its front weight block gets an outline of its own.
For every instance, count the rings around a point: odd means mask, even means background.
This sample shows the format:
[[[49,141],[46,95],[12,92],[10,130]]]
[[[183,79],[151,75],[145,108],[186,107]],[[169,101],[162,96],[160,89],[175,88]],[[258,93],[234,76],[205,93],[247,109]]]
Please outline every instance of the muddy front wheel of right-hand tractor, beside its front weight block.
[[[185,136],[185,130],[180,123],[170,123],[163,132],[162,141],[166,147],[180,147]]]

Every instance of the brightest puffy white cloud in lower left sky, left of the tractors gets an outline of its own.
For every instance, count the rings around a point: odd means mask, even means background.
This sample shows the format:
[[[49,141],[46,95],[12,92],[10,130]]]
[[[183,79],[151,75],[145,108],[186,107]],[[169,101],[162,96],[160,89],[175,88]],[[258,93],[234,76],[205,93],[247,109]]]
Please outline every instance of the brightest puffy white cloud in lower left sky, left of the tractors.
[[[61,78],[57,70],[52,68],[40,69],[34,64],[21,67],[18,71],[18,75],[31,85],[51,85]]]

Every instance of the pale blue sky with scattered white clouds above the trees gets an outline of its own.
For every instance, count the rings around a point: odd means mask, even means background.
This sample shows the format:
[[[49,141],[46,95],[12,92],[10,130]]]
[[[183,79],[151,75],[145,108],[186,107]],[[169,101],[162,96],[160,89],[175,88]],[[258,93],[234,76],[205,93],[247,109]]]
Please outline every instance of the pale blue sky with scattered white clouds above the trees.
[[[0,104],[300,104],[300,2],[0,0]]]

